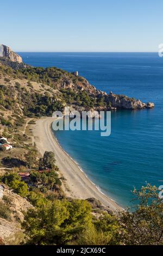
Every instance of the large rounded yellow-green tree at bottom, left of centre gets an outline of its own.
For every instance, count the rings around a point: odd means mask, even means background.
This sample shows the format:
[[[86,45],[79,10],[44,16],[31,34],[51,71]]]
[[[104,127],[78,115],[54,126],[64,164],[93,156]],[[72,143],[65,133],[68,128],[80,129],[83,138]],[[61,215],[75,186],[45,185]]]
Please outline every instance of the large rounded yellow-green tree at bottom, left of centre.
[[[66,245],[91,220],[91,206],[85,200],[54,200],[28,210],[22,226],[30,245]]]

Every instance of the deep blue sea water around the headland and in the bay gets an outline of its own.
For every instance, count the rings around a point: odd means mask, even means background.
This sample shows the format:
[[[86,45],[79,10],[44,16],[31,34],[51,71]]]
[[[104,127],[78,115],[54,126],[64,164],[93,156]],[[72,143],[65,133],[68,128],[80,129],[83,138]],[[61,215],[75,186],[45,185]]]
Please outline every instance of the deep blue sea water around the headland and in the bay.
[[[101,190],[122,206],[131,190],[163,185],[163,58],[158,53],[20,53],[34,66],[57,66],[98,89],[155,103],[154,109],[111,113],[111,136],[99,131],[58,131],[68,154]]]

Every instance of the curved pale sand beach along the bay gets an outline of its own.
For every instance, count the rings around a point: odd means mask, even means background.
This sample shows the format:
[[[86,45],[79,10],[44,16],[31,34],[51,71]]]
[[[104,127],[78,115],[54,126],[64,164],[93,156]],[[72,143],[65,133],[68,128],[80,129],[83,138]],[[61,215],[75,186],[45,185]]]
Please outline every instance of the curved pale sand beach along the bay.
[[[41,155],[45,151],[54,151],[56,164],[66,179],[66,186],[64,186],[66,196],[79,199],[94,197],[114,212],[122,210],[121,206],[114,200],[98,190],[96,185],[82,172],[78,164],[60,147],[51,130],[53,121],[54,118],[51,117],[36,120],[36,125],[33,129],[34,141]]]

